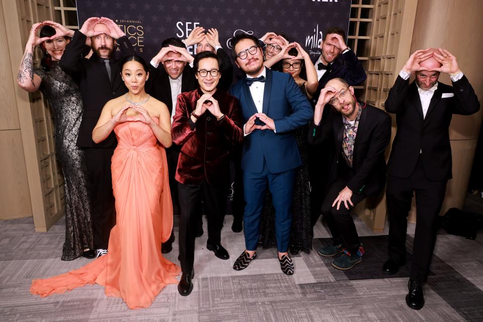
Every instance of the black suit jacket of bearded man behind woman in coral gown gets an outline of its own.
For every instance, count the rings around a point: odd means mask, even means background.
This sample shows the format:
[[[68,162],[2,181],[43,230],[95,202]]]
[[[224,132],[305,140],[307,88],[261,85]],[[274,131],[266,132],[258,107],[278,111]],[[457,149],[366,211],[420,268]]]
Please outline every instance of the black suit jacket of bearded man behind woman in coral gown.
[[[122,57],[134,55],[135,51],[127,37],[117,40]],[[70,43],[65,47],[59,65],[79,84],[84,112],[82,122],[77,136],[77,146],[80,147],[113,147],[117,140],[114,132],[104,141],[94,143],[92,140],[92,130],[97,124],[104,105],[125,93],[126,86],[121,79],[120,63],[121,59],[111,58],[111,78],[104,63],[104,59],[93,54],[90,59],[83,58],[85,51],[86,35],[80,31],[75,31]]]

